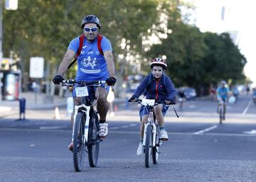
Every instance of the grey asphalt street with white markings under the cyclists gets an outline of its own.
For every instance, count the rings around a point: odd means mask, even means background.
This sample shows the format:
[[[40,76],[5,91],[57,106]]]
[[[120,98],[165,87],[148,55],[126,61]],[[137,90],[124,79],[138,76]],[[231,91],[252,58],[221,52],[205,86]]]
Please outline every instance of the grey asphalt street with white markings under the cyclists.
[[[108,118],[109,135],[100,143],[97,167],[90,168],[85,159],[79,173],[68,151],[68,119],[54,120],[50,110],[28,110],[26,121],[16,121],[16,115],[0,118],[1,181],[255,181],[256,106],[250,96],[240,96],[228,105],[222,125],[216,107],[198,98],[186,101],[182,110],[176,107],[180,118],[170,109],[169,141],[160,149],[159,164],[146,169],[136,154],[138,107],[121,103]]]

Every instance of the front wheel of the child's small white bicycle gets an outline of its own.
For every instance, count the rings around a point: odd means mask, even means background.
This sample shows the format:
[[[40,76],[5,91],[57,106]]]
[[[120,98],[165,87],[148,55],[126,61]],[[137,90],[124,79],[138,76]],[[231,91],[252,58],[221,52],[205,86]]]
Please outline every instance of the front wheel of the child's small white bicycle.
[[[152,126],[146,127],[146,142],[145,142],[145,167],[149,168],[151,161],[151,147],[152,147]]]

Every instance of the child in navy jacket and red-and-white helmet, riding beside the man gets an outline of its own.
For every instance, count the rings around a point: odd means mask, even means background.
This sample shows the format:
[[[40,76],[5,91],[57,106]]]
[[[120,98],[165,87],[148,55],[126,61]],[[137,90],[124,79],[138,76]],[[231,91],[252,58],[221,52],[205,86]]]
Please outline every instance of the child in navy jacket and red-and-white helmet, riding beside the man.
[[[169,76],[164,74],[166,67],[166,61],[162,58],[157,57],[151,60],[151,73],[143,79],[142,83],[137,87],[132,97],[129,98],[129,101],[136,101],[137,98],[139,98],[139,96],[141,96],[143,93],[147,99],[155,99],[156,102],[166,104],[175,103],[176,90],[174,89],[174,84]],[[162,105],[154,107],[156,120],[158,121],[160,127],[160,139],[164,141],[168,140],[168,135],[164,127],[164,115],[166,114],[167,109],[167,106]],[[146,106],[142,106],[142,108],[140,108],[139,115],[142,123],[140,126],[140,142],[137,149],[137,155],[142,155],[144,153],[144,123],[146,123],[149,118],[149,110],[146,109]]]

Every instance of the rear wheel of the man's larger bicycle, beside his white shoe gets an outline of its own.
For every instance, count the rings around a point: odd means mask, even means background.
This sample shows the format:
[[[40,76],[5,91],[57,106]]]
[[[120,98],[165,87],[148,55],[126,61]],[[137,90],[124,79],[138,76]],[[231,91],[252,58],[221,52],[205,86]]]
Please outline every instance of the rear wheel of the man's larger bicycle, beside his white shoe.
[[[97,160],[99,157],[100,150],[100,137],[98,136],[98,132],[100,130],[99,120],[97,118],[97,113],[95,110],[92,110],[92,114],[90,116],[89,123],[89,132],[88,132],[88,160],[90,167],[97,166]]]

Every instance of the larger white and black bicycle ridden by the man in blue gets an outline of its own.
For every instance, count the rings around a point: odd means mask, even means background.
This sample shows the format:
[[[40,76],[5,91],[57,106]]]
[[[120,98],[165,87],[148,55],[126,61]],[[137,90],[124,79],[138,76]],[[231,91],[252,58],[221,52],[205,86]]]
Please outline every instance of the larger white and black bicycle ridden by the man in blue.
[[[90,96],[88,89],[93,92],[94,88],[105,86],[106,81],[75,81],[75,79],[63,80],[62,86],[75,87],[77,97],[82,101],[79,106],[75,106],[73,123],[73,164],[75,171],[81,171],[84,162],[85,152],[88,153],[90,167],[97,166],[99,157],[100,139],[99,116],[94,104],[97,102],[95,96]],[[92,94],[94,95],[94,93]],[[87,146],[87,150],[85,149]]]

